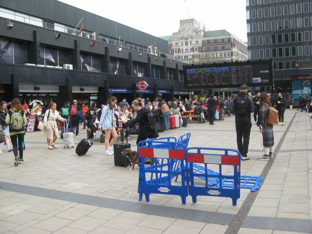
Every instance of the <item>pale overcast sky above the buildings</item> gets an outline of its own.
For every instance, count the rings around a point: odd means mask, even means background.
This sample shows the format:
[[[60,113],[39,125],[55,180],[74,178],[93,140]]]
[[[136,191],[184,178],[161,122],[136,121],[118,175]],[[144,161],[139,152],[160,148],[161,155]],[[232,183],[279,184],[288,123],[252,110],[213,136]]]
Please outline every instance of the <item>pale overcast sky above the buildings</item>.
[[[59,1],[156,37],[172,35],[178,31],[180,20],[194,18],[201,27],[205,25],[205,30],[225,29],[247,41],[246,0]]]

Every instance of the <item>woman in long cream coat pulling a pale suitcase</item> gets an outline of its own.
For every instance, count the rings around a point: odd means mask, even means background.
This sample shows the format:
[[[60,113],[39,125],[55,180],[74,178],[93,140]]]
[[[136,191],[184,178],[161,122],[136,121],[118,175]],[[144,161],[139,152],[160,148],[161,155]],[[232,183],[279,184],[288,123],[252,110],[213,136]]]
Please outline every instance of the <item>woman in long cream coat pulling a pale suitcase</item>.
[[[55,145],[55,141],[59,137],[59,129],[57,119],[66,122],[66,118],[62,118],[57,109],[57,103],[51,102],[48,110],[45,112],[43,117],[44,123],[44,136],[47,137],[48,149],[54,150],[58,147]]]

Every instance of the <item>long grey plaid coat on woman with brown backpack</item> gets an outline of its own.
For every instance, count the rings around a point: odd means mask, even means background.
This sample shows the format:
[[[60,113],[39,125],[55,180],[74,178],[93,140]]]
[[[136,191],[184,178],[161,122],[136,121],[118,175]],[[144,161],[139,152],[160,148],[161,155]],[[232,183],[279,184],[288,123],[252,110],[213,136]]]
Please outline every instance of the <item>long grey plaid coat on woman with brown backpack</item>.
[[[263,127],[263,146],[264,147],[271,147],[274,145],[274,133],[273,133],[273,125],[267,125],[265,126],[265,120],[268,116],[269,112],[269,106],[268,104],[264,103],[262,104],[260,111],[259,111],[259,117],[257,121],[257,126]]]

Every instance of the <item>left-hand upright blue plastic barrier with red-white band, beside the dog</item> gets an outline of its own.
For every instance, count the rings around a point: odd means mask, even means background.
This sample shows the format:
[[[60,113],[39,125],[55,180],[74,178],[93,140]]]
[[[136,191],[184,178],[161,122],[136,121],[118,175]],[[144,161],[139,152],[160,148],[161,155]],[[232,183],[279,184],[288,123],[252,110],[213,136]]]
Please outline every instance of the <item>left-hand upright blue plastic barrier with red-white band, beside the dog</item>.
[[[150,201],[150,194],[179,195],[182,204],[188,196],[186,170],[175,170],[176,164],[185,168],[186,146],[176,141],[158,141],[149,139],[138,143],[138,156],[154,158],[152,166],[145,166],[144,160],[139,163],[139,200],[143,194]],[[156,159],[161,159],[157,165]],[[179,182],[172,181],[178,177]],[[170,178],[170,179],[169,179]]]

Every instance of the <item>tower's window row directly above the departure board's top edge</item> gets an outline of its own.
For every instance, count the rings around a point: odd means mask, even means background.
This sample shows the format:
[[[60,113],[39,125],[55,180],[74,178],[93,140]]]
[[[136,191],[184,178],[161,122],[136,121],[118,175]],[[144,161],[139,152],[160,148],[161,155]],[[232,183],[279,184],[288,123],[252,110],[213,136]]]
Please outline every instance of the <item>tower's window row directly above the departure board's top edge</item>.
[[[252,55],[251,55],[252,53]],[[305,46],[291,46],[291,47],[279,47],[279,48],[266,48],[266,49],[254,49],[248,51],[249,59],[273,59],[295,56],[310,56],[310,45]]]

